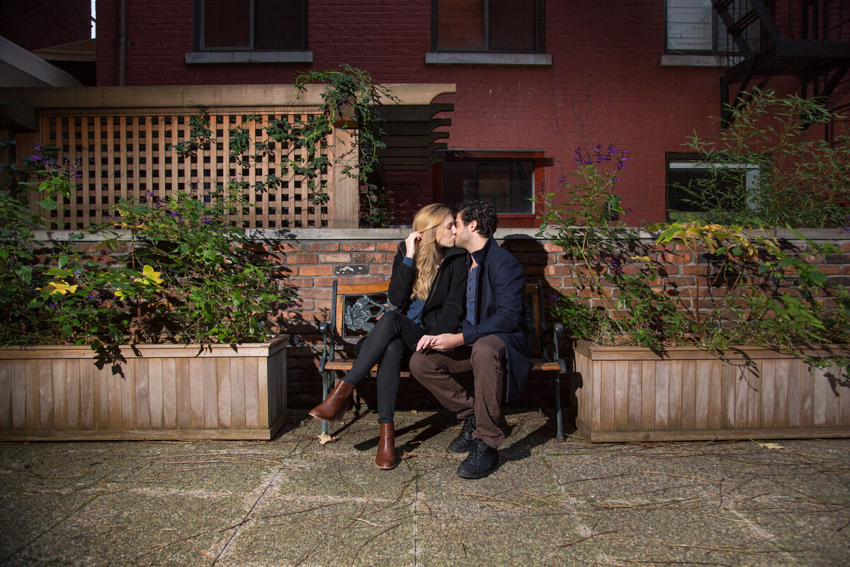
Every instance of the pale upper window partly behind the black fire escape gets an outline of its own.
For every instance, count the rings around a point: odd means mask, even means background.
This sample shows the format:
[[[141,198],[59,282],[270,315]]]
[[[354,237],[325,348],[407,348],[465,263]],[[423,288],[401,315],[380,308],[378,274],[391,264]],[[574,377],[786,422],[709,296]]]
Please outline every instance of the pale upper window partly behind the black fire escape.
[[[711,8],[711,0],[666,0],[666,10],[668,53],[729,55],[738,51],[723,21]],[[747,0],[737,0],[729,6],[735,20],[750,10]],[[757,51],[759,26],[748,26],[745,37]]]

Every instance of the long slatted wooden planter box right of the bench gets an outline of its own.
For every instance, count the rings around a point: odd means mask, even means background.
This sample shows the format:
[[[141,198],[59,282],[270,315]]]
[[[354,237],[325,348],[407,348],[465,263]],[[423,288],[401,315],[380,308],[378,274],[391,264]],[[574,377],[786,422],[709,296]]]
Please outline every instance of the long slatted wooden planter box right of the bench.
[[[841,368],[810,369],[771,349],[734,348],[718,358],[672,347],[660,358],[640,347],[578,341],[574,386],[576,427],[591,442],[850,437]]]

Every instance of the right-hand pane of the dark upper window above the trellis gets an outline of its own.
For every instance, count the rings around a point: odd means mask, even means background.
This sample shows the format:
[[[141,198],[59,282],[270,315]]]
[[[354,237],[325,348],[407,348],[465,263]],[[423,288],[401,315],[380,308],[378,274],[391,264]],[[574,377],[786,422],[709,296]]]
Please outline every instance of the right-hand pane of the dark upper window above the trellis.
[[[254,0],[254,48],[306,48],[303,8],[303,0]]]

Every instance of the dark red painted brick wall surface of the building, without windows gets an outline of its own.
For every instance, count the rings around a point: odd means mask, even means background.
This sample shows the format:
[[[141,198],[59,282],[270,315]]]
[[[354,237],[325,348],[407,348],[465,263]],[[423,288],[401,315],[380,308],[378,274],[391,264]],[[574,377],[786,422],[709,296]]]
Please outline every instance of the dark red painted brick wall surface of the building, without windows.
[[[101,4],[103,6],[101,7]],[[98,82],[116,81],[114,2],[99,3]],[[719,131],[717,68],[662,67],[664,3],[546,3],[546,50],[552,66],[425,65],[431,50],[431,2],[351,3],[310,0],[309,50],[313,65],[186,65],[192,51],[190,0],[128,0],[127,84],[292,83],[309,69],[348,63],[379,82],[450,82],[449,148],[544,150],[547,190],[572,167],[578,145],[630,150],[620,185],[630,218],[660,220],[665,211],[666,152],[681,151],[694,130]],[[431,201],[429,179],[393,173],[402,223]]]

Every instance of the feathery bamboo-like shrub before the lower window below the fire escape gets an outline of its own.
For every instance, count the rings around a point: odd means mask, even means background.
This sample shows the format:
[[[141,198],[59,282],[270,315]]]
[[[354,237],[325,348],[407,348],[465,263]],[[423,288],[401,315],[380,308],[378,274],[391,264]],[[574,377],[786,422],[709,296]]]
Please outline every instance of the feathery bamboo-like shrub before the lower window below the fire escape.
[[[689,150],[708,175],[683,187],[712,223],[842,227],[850,220],[850,139],[817,138],[814,127],[841,118],[820,99],[756,90],[730,107],[717,142],[694,133]],[[751,167],[750,183],[747,168]],[[757,181],[753,179],[757,172]]]

